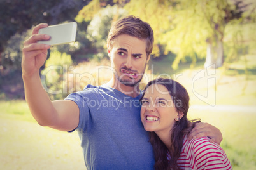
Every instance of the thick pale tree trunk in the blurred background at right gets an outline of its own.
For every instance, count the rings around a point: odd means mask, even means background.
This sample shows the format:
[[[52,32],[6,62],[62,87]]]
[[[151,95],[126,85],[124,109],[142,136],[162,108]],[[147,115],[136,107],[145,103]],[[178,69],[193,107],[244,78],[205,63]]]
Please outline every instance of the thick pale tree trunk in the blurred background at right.
[[[218,68],[223,65],[223,62],[224,62],[223,42],[221,40],[218,40],[214,45],[212,42],[208,42],[204,68]]]

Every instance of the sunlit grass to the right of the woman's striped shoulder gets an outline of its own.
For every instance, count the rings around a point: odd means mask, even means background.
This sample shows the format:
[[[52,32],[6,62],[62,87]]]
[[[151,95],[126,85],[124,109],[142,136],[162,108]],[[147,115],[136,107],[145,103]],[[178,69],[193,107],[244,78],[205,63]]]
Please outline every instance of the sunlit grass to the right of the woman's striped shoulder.
[[[218,111],[214,108],[188,112],[191,119],[201,118],[222,132],[224,148],[233,169],[256,169],[255,112]]]

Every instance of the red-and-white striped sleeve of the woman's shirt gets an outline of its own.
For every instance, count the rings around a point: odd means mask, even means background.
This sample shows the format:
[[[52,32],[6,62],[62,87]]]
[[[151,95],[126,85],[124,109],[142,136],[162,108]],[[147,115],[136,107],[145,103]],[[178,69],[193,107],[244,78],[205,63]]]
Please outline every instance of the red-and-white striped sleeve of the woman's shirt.
[[[200,138],[193,145],[193,169],[232,169],[224,150],[216,143],[210,143],[208,138]]]

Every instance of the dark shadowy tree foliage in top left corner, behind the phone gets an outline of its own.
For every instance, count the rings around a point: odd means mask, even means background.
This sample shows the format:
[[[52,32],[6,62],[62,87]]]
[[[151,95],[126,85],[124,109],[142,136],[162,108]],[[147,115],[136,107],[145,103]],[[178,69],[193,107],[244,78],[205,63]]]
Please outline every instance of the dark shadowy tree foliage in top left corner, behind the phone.
[[[8,40],[12,36],[24,34],[25,31],[31,29],[32,25],[45,22],[50,25],[64,21],[74,21],[78,11],[89,1],[80,0],[57,0],[57,1],[0,1],[0,66],[7,67],[13,64],[15,58],[9,56],[6,48],[10,51],[15,46],[8,44]],[[22,39],[23,41],[24,39]],[[17,43],[17,42],[16,42]],[[22,43],[22,42],[20,42]],[[17,52],[17,60],[20,60],[20,45]],[[5,65],[4,65],[5,63]],[[8,65],[6,65],[8,64]]]

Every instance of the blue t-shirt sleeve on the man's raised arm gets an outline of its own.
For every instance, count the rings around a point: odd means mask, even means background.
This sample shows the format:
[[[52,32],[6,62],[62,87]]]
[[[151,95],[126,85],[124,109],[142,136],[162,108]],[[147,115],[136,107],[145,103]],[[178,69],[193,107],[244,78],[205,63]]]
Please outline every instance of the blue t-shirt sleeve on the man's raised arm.
[[[65,98],[65,100],[74,101],[79,108],[78,126],[69,132],[73,132],[76,129],[86,132],[90,127],[90,109],[87,105],[88,98],[83,97],[79,92],[77,92],[77,93],[71,93]]]

